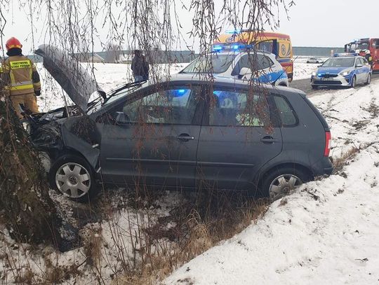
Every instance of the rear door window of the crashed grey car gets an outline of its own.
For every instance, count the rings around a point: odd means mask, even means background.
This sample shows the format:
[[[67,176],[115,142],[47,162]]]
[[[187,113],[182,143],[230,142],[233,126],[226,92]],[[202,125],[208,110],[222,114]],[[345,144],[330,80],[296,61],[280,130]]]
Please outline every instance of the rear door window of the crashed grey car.
[[[270,125],[270,108],[265,95],[248,91],[214,90],[209,106],[209,125],[265,127]]]

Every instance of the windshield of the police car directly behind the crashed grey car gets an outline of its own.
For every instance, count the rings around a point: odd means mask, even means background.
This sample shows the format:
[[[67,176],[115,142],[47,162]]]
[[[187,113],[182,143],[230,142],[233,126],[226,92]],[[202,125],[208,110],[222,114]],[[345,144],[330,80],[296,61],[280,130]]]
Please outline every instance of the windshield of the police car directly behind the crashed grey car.
[[[227,71],[232,64],[232,61],[236,55],[234,54],[217,54],[214,53],[208,57],[198,57],[197,60],[194,60],[191,64],[189,64],[185,69],[183,69],[182,73],[184,74],[205,74],[205,73],[213,73],[213,74],[222,74],[222,72]],[[211,70],[210,60],[212,61],[213,72]]]

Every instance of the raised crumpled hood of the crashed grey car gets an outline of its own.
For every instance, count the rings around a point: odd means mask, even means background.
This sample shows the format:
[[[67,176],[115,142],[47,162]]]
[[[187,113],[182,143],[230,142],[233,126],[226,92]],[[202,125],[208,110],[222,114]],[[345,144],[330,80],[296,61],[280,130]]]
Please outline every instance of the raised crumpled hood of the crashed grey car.
[[[95,79],[74,57],[55,46],[39,46],[34,52],[44,58],[44,67],[65,90],[72,101],[86,112],[88,101],[94,92],[105,97],[105,92]]]

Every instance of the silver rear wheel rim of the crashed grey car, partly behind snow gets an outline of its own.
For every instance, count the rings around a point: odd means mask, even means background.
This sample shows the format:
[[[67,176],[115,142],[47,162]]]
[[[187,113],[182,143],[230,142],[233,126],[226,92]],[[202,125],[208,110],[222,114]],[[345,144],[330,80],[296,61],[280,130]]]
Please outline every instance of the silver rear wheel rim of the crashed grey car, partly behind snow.
[[[293,174],[281,174],[280,176],[277,176],[277,178],[275,178],[270,184],[270,200],[274,201],[284,197],[284,195],[287,195],[291,190],[301,184],[301,179]]]

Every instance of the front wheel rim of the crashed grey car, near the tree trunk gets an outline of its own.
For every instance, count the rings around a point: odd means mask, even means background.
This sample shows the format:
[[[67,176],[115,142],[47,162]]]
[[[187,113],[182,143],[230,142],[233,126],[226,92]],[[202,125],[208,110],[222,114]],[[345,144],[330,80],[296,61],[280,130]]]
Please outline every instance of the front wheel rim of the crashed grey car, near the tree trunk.
[[[55,184],[60,192],[70,198],[83,197],[91,188],[88,170],[75,162],[67,162],[55,174]]]

